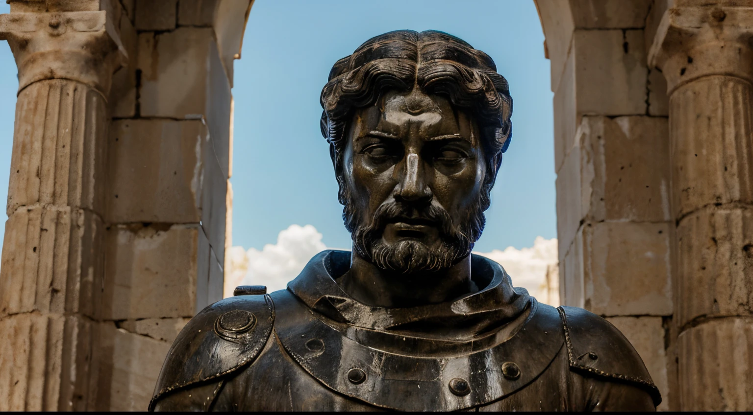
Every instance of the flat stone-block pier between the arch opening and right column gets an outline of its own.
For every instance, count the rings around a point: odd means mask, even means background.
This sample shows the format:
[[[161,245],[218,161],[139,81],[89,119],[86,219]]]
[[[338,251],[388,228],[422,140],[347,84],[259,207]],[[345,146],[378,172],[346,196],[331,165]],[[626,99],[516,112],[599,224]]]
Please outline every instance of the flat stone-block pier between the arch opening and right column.
[[[651,0],[537,0],[551,62],[559,292],[617,326],[672,406],[666,81],[647,65]]]

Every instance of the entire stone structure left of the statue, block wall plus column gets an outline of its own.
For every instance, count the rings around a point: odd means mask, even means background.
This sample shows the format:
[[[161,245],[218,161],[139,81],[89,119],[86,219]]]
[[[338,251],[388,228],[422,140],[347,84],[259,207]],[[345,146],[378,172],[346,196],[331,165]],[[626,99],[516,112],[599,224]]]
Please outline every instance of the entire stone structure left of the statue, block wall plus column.
[[[245,0],[12,0],[0,410],[144,410],[222,298]]]

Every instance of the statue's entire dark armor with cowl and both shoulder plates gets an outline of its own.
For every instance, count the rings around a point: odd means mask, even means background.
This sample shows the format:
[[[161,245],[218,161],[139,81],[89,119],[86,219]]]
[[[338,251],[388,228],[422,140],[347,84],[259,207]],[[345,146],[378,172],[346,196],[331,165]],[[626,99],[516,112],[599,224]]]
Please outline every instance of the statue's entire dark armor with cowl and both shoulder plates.
[[[149,409],[643,410],[660,402],[614,326],[518,294],[488,260],[477,259],[490,276],[480,292],[388,310],[346,298],[327,269],[331,256],[312,259],[287,290],[226,298],[191,319]]]

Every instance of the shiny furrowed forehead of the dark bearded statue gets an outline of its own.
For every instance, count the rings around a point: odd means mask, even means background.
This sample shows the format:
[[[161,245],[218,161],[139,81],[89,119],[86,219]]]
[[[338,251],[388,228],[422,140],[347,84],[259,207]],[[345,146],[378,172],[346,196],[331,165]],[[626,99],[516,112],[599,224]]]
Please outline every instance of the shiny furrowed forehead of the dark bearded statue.
[[[468,138],[474,135],[465,111],[453,109],[444,96],[427,94],[419,88],[386,92],[375,105],[360,108],[357,119],[367,129],[395,135],[404,135],[405,129],[416,126],[426,135],[461,134]]]

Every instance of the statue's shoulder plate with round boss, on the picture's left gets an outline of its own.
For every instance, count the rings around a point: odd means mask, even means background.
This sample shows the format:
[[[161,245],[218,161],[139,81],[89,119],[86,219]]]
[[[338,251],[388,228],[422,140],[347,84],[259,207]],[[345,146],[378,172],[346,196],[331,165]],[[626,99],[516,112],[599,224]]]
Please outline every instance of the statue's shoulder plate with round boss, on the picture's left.
[[[149,410],[164,395],[230,374],[267,344],[275,320],[269,295],[225,298],[196,315],[175,338]]]

